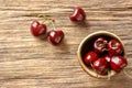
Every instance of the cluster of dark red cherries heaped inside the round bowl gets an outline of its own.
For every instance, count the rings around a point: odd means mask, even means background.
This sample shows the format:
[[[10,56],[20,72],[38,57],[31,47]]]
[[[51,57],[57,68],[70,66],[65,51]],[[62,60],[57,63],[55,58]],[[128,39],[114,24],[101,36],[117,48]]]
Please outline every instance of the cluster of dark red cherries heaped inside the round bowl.
[[[92,47],[94,50],[84,56],[84,63],[98,74],[107,75],[110,70],[120,73],[128,65],[122,56],[123,46],[118,40],[107,41],[99,37],[94,42]]]

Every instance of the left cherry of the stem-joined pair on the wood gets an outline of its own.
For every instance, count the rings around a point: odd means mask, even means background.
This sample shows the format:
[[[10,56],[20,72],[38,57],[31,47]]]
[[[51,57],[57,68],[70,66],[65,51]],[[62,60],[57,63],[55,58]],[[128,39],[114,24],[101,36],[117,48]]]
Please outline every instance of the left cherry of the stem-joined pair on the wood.
[[[41,24],[37,21],[33,21],[31,23],[31,32],[34,36],[41,36],[46,33],[46,25]]]

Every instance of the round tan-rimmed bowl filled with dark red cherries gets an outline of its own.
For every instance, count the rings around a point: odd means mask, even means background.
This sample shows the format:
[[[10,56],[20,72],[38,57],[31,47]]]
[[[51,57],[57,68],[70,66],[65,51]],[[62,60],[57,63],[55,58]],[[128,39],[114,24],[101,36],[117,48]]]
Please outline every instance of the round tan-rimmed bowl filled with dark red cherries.
[[[86,36],[78,46],[77,56],[82,69],[96,78],[110,78],[128,65],[122,41],[107,31]]]

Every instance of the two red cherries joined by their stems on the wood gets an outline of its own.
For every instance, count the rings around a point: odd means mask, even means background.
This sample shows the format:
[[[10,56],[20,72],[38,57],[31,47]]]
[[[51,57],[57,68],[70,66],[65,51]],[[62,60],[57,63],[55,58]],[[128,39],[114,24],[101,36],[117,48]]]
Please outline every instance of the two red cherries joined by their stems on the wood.
[[[47,32],[46,24],[40,23],[38,21],[33,21],[31,23],[31,32],[34,36],[44,36],[46,35],[48,42],[51,42],[53,45],[57,45],[61,43],[61,41],[64,38],[64,32],[58,30],[51,30]]]

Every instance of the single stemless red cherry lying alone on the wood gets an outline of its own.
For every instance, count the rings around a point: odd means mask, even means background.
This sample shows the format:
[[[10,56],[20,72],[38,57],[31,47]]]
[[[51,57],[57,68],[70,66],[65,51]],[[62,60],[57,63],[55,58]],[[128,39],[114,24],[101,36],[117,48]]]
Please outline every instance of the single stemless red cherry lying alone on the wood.
[[[69,15],[69,19],[73,22],[84,22],[86,20],[86,13],[81,8],[77,7],[75,8],[74,13]]]

